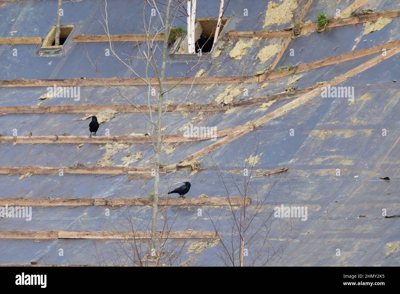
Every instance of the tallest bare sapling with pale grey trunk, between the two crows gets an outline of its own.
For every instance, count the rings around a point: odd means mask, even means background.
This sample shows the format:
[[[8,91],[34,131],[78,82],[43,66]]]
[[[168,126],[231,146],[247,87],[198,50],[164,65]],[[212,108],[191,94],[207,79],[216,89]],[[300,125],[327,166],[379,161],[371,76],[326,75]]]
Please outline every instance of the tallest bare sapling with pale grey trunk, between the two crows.
[[[186,72],[178,79],[174,84],[165,83],[165,70],[168,61],[168,40],[170,36],[171,29],[173,28],[174,21],[182,16],[186,17],[186,10],[184,9],[184,4],[187,0],[168,0],[167,3],[161,3],[156,0],[145,0],[143,5],[143,27],[139,28],[142,34],[145,35],[144,41],[137,40],[136,35],[132,33],[135,37],[136,45],[134,48],[137,50],[132,50],[135,54],[122,52],[119,53],[114,47],[114,42],[112,40],[112,32],[109,29],[108,23],[108,9],[107,0],[104,0],[104,5],[102,6],[102,20],[98,21],[104,28],[104,32],[108,36],[108,43],[110,49],[110,56],[113,56],[121,64],[126,66],[128,70],[136,77],[142,80],[144,84],[148,87],[146,91],[146,99],[149,112],[148,114],[142,111],[135,103],[133,103],[127,95],[124,95],[118,88],[112,86],[106,82],[97,67],[97,60],[93,62],[90,58],[88,51],[85,50],[85,54],[90,60],[90,63],[96,70],[98,76],[103,81],[103,83],[110,89],[117,92],[122,98],[128,101],[131,105],[135,106],[138,111],[144,116],[146,121],[151,126],[151,138],[152,138],[152,149],[154,151],[154,168],[152,168],[152,176],[154,176],[154,193],[153,196],[153,212],[152,212],[152,224],[151,224],[151,242],[150,250],[156,248],[157,242],[157,213],[158,213],[158,198],[159,198],[159,186],[160,186],[160,166],[161,158],[160,154],[162,150],[168,148],[168,146],[162,146],[162,116],[164,114],[170,114],[172,112],[178,111],[179,107],[187,100],[189,94],[192,92],[193,85],[195,83],[196,77],[193,78],[190,85],[190,89],[184,100],[178,105],[176,109],[170,109],[168,111],[168,105],[164,107],[164,101],[168,97],[168,93],[174,89],[176,86],[182,83],[182,81],[188,76],[190,72],[196,68],[201,68],[201,64],[204,61],[205,56],[200,55],[200,58],[186,69]],[[147,15],[148,8],[152,11],[152,16]],[[160,36],[163,36],[163,41],[158,41]],[[144,63],[144,76],[141,74],[138,66],[135,66],[139,60]],[[182,72],[181,72],[182,73]],[[156,91],[158,88],[158,91]],[[156,116],[154,116],[156,112]],[[161,242],[161,241],[160,241]]]

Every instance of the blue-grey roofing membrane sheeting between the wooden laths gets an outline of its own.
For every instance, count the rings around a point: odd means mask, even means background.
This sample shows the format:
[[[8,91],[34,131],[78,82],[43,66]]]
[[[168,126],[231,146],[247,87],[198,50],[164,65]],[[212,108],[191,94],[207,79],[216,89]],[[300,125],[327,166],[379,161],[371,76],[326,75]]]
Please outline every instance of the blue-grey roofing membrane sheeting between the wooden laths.
[[[295,1],[293,17],[283,24],[264,26],[268,3],[286,5]],[[218,16],[219,1],[198,0],[197,17]],[[295,23],[307,1],[234,1],[229,2],[224,16],[231,17],[230,30],[260,31],[287,28]],[[62,24],[74,24],[72,35],[104,34],[96,20],[101,18],[101,2],[95,0],[63,2]],[[343,10],[352,2],[314,0],[303,21],[315,21],[318,12],[333,17],[336,8]],[[104,4],[104,2],[102,3]],[[143,1],[108,1],[111,34],[140,34]],[[274,5],[275,5],[274,4]],[[398,1],[368,1],[357,11],[398,9]],[[0,2],[0,36],[45,38],[55,24],[56,2]],[[148,14],[150,14],[148,7]],[[244,16],[244,9],[248,15]],[[261,15],[260,15],[261,13]],[[186,20],[186,18],[184,18]],[[313,62],[354,50],[398,40],[400,20],[393,18],[380,30],[362,35],[364,25],[342,26],[324,32],[310,32],[293,39],[276,68]],[[176,20],[176,26],[185,23]],[[224,31],[226,33],[226,31]],[[134,77],[134,74],[112,56],[105,56],[107,42],[73,42],[66,40],[60,57],[38,56],[40,44],[0,45],[0,79],[98,78],[88,55],[97,60],[103,77]],[[360,38],[359,41],[356,38]],[[393,39],[392,39],[393,38]],[[242,39],[248,42],[250,38]],[[251,76],[266,70],[276,54],[262,62],[258,53],[268,45],[283,44],[280,38],[254,40],[241,59],[229,53],[239,40],[218,42],[221,54],[201,65],[205,76]],[[144,44],[114,42],[118,54],[138,55]],[[162,44],[162,42],[160,42]],[[338,47],[337,47],[338,46]],[[336,48],[337,47],[337,48]],[[12,55],[16,48],[17,56]],[[168,51],[171,46],[168,48]],[[294,56],[290,55],[294,49]],[[179,85],[166,97],[172,104],[214,103],[227,90],[234,90],[233,101],[303,89],[325,82],[379,56],[362,58],[298,72],[284,78],[260,83]],[[138,73],[144,65],[137,62]],[[177,77],[193,66],[191,62],[167,63],[166,76]],[[189,76],[194,76],[200,66]],[[245,265],[258,266],[398,266],[400,264],[400,58],[396,54],[348,78],[337,86],[354,87],[354,101],[348,98],[315,96],[306,104],[278,116],[263,126],[202,156],[200,170],[179,169],[160,176],[160,195],[189,181],[192,186],[185,196],[196,198],[238,197],[244,192],[244,168],[252,177],[247,182],[247,195],[252,206],[247,213],[256,217],[246,231],[249,255]],[[150,74],[152,75],[152,74]],[[231,87],[231,88],[229,88]],[[0,88],[0,107],[50,105],[129,105],[107,86],[81,86],[80,100],[52,98],[39,100],[47,87]],[[146,86],[115,86],[135,104],[147,104]],[[245,95],[245,89],[248,95]],[[191,90],[191,91],[190,91]],[[236,90],[236,91],[235,91]],[[188,94],[189,93],[189,94]],[[187,98],[186,98],[187,96]],[[226,97],[232,94],[225,95]],[[231,97],[232,98],[232,97]],[[182,126],[216,126],[218,130],[241,126],[284,106],[291,100],[277,101],[269,108],[260,105],[234,111],[176,111],[163,116],[163,134],[182,134]],[[70,134],[87,136],[89,120],[85,113],[5,114],[0,111],[0,134],[18,136]],[[151,130],[140,113],[116,113],[102,122],[98,134],[106,129],[110,135],[144,134]],[[179,130],[180,129],[180,130]],[[294,136],[292,136],[292,134]],[[217,142],[222,138],[218,138]],[[210,146],[210,140],[179,143],[172,152],[163,151],[161,161],[171,164]],[[0,166],[123,166],[124,156],[140,153],[139,159],[127,166],[152,166],[154,152],[150,144],[132,143],[120,148],[107,144],[0,144]],[[112,145],[112,144],[111,144]],[[168,153],[168,154],[167,154]],[[249,156],[254,156],[250,166]],[[141,159],[140,159],[141,158]],[[260,174],[276,168],[290,170],[272,176]],[[340,176],[338,175],[340,170]],[[153,178],[135,178],[120,174],[34,174],[20,179],[20,174],[0,174],[2,198],[131,198],[150,197]],[[380,179],[388,176],[390,180]],[[249,178],[247,178],[249,179]],[[173,194],[176,197],[176,194]],[[274,207],[307,207],[307,220],[276,218]],[[258,206],[259,205],[259,206]],[[106,209],[110,210],[109,216]],[[202,209],[202,215],[198,215]],[[167,222],[168,230],[216,230],[215,240],[168,239],[163,246],[162,264],[192,266],[232,265],[226,244],[233,248],[238,265],[240,238],[232,226],[242,208],[229,206],[169,206],[158,214],[158,230]],[[150,230],[150,206],[57,206],[32,208],[32,220],[0,218],[0,231],[132,231]],[[167,220],[167,221],[166,221]],[[0,264],[138,264],[148,252],[148,239],[3,239],[0,238]],[[233,243],[233,244],[232,244]],[[340,256],[337,256],[337,249]],[[60,256],[60,249],[64,254]],[[137,249],[137,250],[136,250]],[[229,252],[232,254],[232,252]],[[151,264],[151,263],[149,263]]]

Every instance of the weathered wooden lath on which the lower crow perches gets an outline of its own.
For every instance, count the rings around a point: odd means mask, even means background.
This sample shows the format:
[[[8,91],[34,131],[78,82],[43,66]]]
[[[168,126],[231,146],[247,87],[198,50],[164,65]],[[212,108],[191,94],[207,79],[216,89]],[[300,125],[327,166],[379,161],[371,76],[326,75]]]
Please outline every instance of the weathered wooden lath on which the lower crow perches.
[[[246,198],[246,205],[250,199]],[[153,204],[150,198],[0,198],[0,206],[141,206]],[[158,198],[158,205],[198,206],[198,205],[243,205],[242,197],[202,197],[202,198]]]

